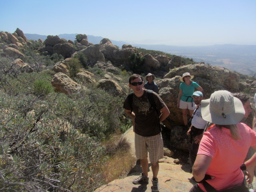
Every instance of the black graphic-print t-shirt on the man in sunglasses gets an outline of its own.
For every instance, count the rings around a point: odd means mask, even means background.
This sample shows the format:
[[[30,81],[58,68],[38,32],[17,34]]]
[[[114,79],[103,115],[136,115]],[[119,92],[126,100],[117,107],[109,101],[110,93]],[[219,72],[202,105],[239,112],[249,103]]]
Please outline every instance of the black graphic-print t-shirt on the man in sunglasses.
[[[153,92],[153,98],[156,103],[158,110],[161,110],[165,104],[158,94]],[[124,106],[126,110],[131,110],[129,104],[128,96],[124,101]],[[156,110],[151,107],[148,100],[148,92],[144,89],[144,94],[141,97],[137,97],[133,94],[132,100],[132,112],[135,114],[135,133],[144,136],[155,136],[161,132],[161,127],[159,124],[159,117]]]

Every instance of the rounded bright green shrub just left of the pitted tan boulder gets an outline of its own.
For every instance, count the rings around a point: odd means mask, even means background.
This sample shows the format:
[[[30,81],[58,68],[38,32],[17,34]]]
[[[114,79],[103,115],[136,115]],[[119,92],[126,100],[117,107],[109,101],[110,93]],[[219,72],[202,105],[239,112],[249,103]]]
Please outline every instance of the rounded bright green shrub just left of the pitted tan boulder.
[[[36,96],[46,96],[49,93],[53,92],[54,89],[50,82],[44,80],[36,80],[34,81],[34,94]]]

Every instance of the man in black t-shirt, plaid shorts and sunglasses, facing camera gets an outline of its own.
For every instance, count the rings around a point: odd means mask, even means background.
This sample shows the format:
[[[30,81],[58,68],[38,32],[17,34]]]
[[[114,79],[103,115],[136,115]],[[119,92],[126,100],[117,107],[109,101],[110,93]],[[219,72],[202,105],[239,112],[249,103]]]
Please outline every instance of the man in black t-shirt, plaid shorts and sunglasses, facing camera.
[[[153,173],[152,190],[160,189],[158,184],[158,160],[164,157],[163,140],[161,135],[160,122],[169,116],[170,112],[163,100],[152,92],[156,108],[161,111],[158,117],[156,110],[148,100],[148,91],[143,88],[142,76],[133,74],[129,78],[129,87],[133,90],[132,106],[128,96],[124,101],[124,111],[132,118],[133,130],[135,132],[135,153],[140,159],[142,175],[136,178],[134,184],[148,183],[148,153]],[[132,112],[131,112],[132,110]]]

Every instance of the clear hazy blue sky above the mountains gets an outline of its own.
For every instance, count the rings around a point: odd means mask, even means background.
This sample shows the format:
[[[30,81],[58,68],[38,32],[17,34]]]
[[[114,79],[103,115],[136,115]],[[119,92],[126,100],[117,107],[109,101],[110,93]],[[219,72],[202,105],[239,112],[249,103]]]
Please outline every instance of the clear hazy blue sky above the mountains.
[[[0,0],[0,31],[138,44],[256,45],[256,0]]]

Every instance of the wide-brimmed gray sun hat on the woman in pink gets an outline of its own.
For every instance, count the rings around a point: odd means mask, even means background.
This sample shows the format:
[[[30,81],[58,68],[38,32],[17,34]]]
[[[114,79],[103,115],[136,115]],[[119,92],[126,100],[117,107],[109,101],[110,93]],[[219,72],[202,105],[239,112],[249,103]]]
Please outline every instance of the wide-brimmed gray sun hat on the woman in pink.
[[[202,118],[218,125],[239,123],[245,111],[242,102],[226,90],[215,91],[210,99],[201,101]]]

